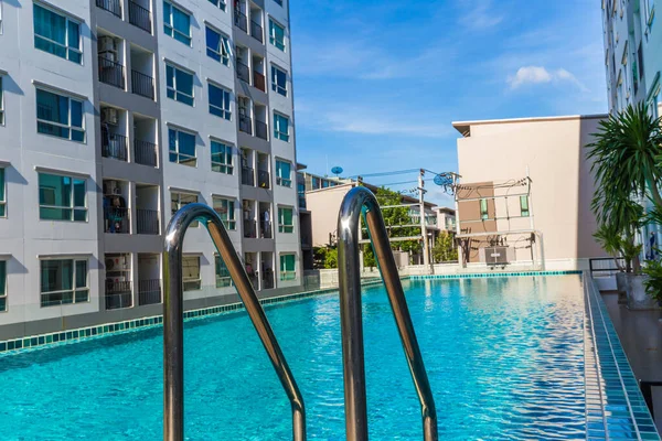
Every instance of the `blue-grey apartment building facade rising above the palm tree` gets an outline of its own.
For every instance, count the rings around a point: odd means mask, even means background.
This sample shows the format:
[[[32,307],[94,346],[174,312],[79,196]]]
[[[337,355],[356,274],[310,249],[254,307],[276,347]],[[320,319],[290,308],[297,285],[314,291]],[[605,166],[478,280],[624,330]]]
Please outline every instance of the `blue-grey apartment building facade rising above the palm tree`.
[[[647,103],[661,116],[662,21],[659,0],[602,0],[602,39],[610,112]]]

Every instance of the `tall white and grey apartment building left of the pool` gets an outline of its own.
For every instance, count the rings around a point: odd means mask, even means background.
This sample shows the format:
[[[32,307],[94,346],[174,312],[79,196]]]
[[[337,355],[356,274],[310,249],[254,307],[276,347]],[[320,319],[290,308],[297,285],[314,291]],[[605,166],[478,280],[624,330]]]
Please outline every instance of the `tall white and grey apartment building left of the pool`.
[[[221,215],[301,284],[286,0],[0,0],[0,340],[161,313],[163,232]],[[202,226],[186,309],[235,301]]]

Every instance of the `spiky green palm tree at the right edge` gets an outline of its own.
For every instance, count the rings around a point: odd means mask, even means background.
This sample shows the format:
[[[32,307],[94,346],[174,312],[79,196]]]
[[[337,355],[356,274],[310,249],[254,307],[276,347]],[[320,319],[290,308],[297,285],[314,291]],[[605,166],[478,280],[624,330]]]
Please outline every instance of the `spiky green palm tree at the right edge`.
[[[661,123],[662,119],[651,117],[644,104],[628,106],[600,121],[598,132],[594,133],[596,140],[587,148],[597,184],[591,209],[601,224],[632,195],[644,197],[648,193],[662,209],[658,189],[662,180]]]

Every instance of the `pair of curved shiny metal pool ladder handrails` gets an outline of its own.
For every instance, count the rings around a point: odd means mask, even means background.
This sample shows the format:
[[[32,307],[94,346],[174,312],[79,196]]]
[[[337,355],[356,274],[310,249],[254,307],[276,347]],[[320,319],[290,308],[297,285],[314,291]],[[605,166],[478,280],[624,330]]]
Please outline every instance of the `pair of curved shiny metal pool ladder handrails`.
[[[362,214],[367,225],[380,272],[388,293],[391,309],[395,316],[409,372],[420,402],[424,440],[437,441],[435,401],[391,250],[391,244],[388,243],[388,234],[377,200],[372,192],[362,186],[352,189],[345,195],[338,217],[338,269],[346,439],[348,441],[367,440],[359,263],[359,240],[361,238],[359,228]],[[290,400],[292,439],[295,441],[306,440],[303,398],[221,218],[212,208],[202,204],[189,204],[175,213],[168,225],[166,234],[163,440],[181,441],[184,435],[182,246],[186,228],[194,220],[200,220],[206,226]]]

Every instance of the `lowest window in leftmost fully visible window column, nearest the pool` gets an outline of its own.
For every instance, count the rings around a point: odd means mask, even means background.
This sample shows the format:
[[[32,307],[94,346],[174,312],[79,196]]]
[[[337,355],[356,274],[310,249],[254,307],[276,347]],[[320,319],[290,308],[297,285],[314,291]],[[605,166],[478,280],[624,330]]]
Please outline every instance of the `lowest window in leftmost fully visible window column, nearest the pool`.
[[[41,305],[89,301],[87,259],[41,261]]]

